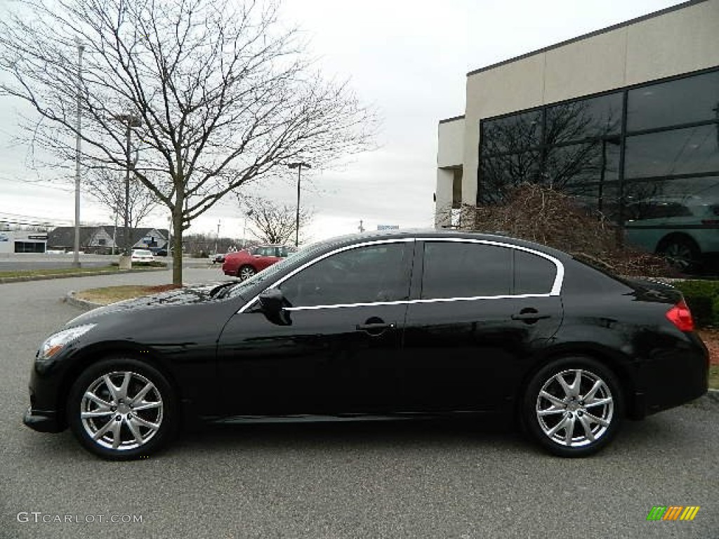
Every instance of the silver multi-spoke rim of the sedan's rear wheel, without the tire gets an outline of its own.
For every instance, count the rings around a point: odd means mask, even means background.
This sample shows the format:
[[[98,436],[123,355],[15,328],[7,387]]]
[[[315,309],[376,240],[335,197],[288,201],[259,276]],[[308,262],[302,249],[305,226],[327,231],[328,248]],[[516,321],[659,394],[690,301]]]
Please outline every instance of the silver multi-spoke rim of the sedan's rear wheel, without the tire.
[[[544,434],[567,447],[589,446],[612,423],[614,400],[608,384],[584,369],[554,374],[536,400],[536,418]]]

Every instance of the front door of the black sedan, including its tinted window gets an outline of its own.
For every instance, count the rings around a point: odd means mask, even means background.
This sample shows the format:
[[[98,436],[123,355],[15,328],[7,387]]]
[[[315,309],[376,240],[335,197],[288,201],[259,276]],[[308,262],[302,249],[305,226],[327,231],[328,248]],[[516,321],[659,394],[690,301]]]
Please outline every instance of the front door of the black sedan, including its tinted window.
[[[272,288],[282,320],[259,302],[234,315],[219,339],[228,415],[382,413],[399,397],[413,240],[325,254]]]

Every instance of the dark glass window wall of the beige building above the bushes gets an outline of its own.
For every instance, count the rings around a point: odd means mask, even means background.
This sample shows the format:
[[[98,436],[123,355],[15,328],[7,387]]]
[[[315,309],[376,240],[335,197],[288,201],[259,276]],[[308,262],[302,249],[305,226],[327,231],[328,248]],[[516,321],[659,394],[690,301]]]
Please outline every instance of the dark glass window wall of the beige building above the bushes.
[[[719,253],[719,69],[483,120],[480,134],[479,205],[543,183],[651,252],[682,236]]]

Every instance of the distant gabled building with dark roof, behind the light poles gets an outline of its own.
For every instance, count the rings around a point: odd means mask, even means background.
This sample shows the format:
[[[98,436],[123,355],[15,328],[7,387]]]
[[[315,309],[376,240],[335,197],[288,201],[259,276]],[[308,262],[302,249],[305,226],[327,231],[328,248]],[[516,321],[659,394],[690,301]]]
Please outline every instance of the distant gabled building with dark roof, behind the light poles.
[[[86,253],[111,254],[123,250],[123,226],[81,226],[80,250]],[[131,249],[160,250],[168,248],[167,229],[129,229]],[[72,251],[75,247],[75,227],[58,226],[47,234],[47,246],[52,250]]]

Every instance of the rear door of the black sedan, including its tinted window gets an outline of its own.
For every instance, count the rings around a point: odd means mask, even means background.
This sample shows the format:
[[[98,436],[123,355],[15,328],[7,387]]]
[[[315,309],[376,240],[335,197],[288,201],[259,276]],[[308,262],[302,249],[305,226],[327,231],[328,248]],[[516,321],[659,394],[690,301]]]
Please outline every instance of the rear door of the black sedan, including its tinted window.
[[[408,410],[492,410],[562,321],[561,262],[487,241],[425,241],[400,377]]]

